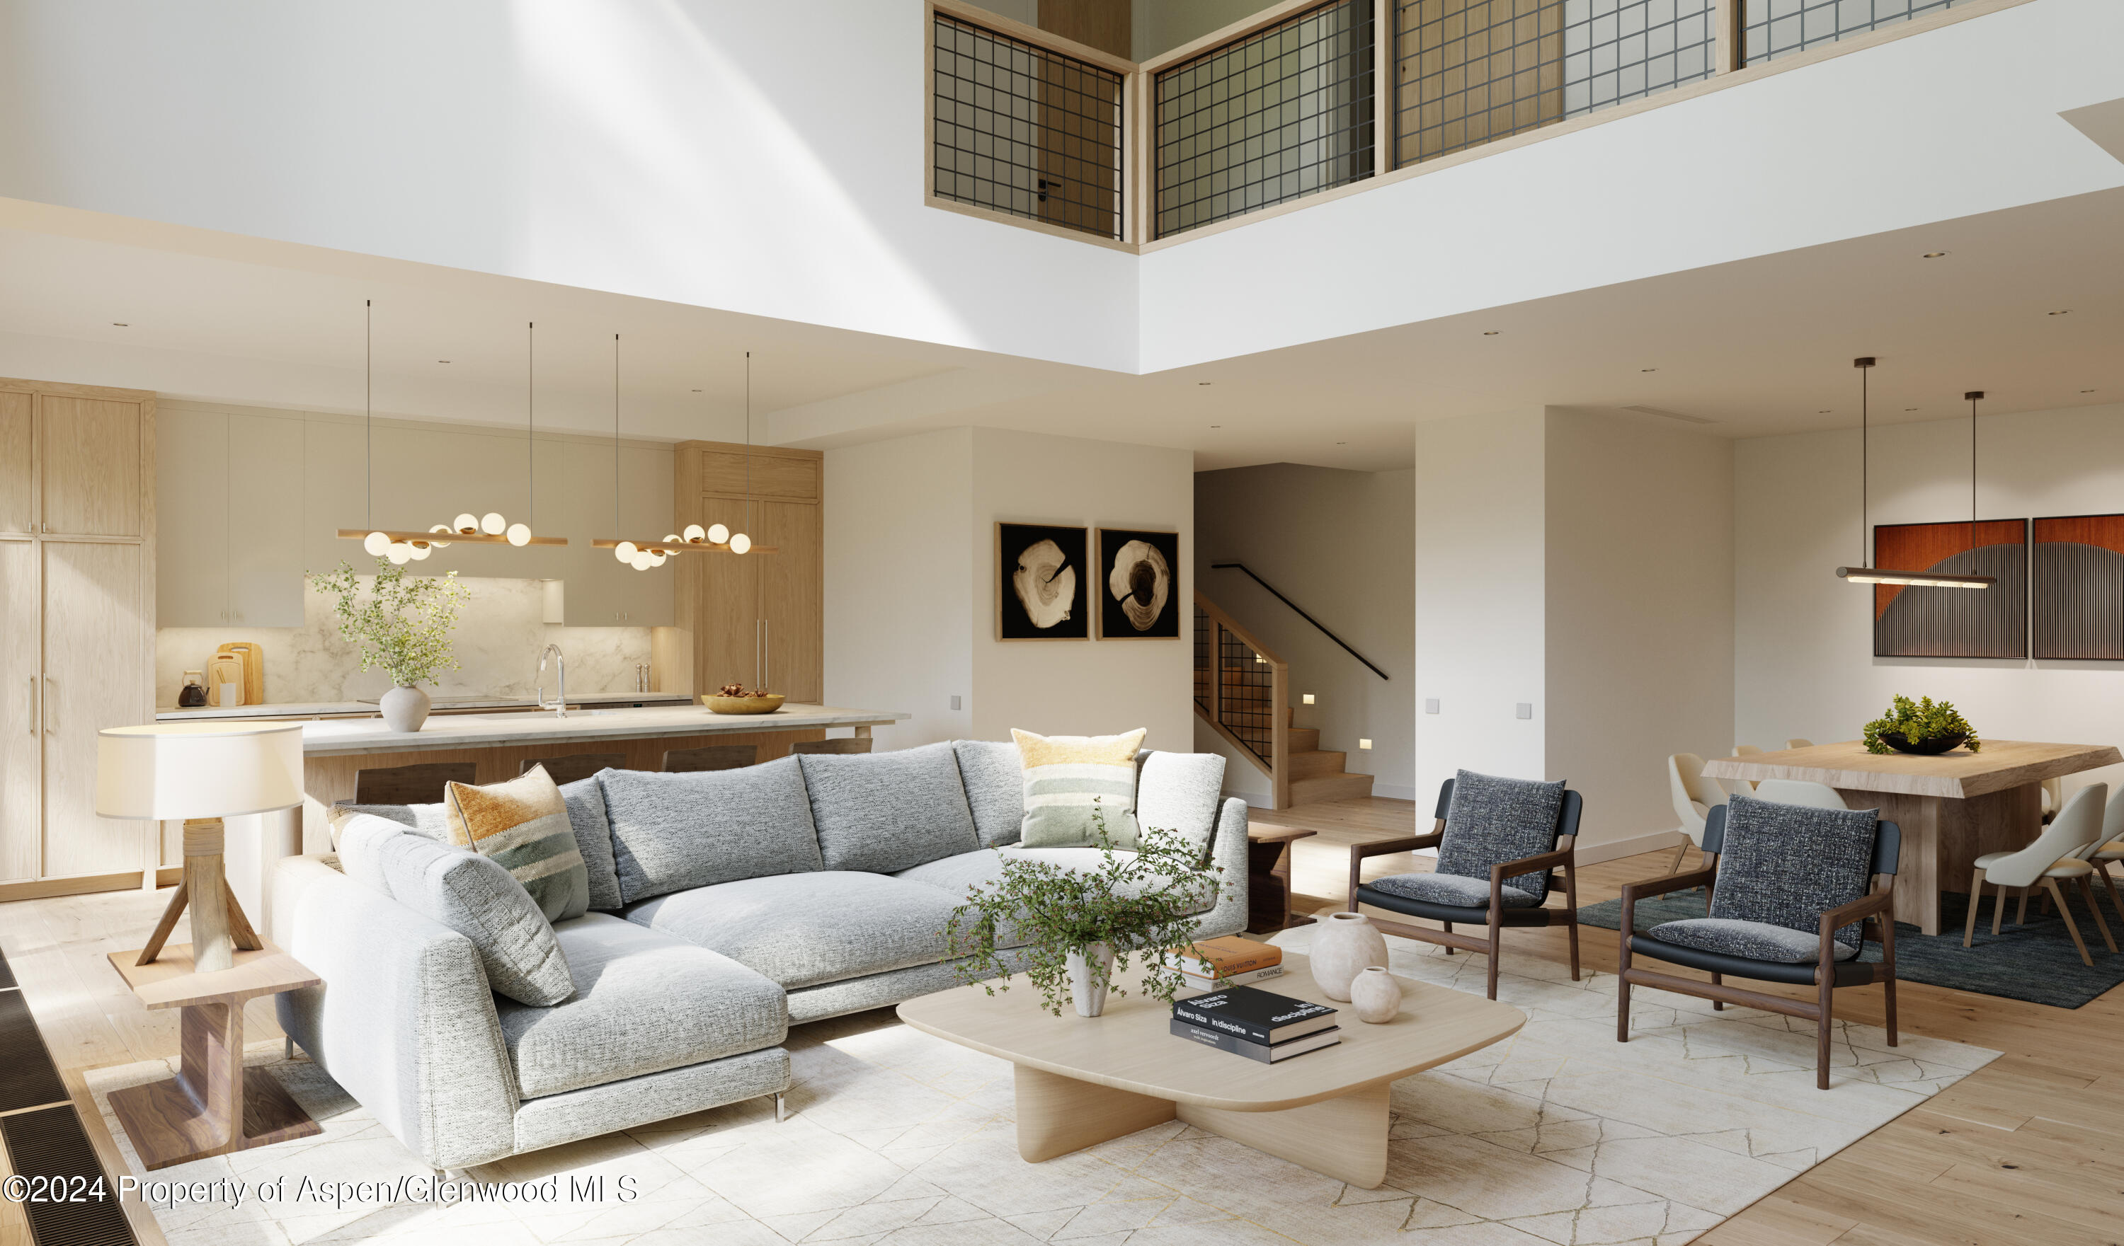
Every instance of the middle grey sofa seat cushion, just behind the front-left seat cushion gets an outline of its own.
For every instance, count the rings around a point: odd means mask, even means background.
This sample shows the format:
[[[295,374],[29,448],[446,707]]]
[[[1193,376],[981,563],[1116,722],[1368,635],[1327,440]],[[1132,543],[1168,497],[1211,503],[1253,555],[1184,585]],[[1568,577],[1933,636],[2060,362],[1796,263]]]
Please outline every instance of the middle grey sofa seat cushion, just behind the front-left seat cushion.
[[[627,919],[796,989],[943,959],[954,908],[941,887],[816,870],[656,896],[627,908]]]

